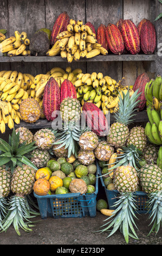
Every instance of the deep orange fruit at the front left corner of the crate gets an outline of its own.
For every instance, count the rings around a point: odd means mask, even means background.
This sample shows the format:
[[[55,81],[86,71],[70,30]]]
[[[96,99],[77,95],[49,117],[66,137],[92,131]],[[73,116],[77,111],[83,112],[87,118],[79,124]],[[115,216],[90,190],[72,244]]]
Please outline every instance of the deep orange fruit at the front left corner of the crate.
[[[33,190],[38,196],[46,196],[49,193],[50,184],[48,180],[38,179],[34,182]]]

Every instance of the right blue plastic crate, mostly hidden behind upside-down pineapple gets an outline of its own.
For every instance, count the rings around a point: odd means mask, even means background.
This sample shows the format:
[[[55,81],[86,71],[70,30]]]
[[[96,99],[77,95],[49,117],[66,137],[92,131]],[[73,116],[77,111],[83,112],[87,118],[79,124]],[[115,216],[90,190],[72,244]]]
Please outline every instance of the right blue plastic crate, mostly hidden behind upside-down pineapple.
[[[120,193],[118,190],[108,190],[105,187],[103,178],[101,176],[102,175],[101,171],[102,171],[101,167],[99,166],[100,180],[101,180],[102,186],[105,188],[105,193],[106,193],[109,209],[115,210],[114,203],[118,200]],[[137,201],[137,203],[135,203],[136,207],[137,207],[137,212],[139,214],[146,214],[149,210],[148,203],[147,203],[147,201],[148,201],[147,193],[142,192],[142,191],[136,191],[136,192],[134,192],[134,195],[135,195],[135,197],[136,197],[135,199]]]

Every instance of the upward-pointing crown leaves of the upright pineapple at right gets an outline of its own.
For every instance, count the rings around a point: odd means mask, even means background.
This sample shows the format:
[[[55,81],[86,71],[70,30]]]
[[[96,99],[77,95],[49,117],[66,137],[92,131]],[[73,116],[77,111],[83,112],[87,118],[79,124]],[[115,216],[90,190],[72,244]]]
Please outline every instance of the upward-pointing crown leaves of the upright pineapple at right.
[[[137,100],[139,95],[141,93],[138,93],[137,89],[131,97],[129,97],[129,88],[127,90],[127,93],[125,94],[122,92],[122,95],[119,92],[119,109],[114,113],[114,119],[118,121],[121,124],[131,124],[132,123],[132,117],[134,117],[135,114],[133,114],[134,111],[136,111],[138,108],[134,109],[140,100]]]

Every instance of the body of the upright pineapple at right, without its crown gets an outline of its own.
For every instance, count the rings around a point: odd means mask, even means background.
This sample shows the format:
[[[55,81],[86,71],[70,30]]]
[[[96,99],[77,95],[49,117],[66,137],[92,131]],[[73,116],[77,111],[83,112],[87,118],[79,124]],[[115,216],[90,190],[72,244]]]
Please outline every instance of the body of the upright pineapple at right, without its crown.
[[[128,127],[124,124],[116,122],[110,127],[107,142],[113,145],[115,148],[120,148],[126,144],[128,136]]]

